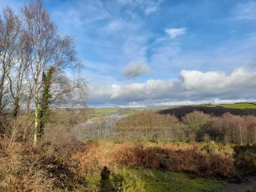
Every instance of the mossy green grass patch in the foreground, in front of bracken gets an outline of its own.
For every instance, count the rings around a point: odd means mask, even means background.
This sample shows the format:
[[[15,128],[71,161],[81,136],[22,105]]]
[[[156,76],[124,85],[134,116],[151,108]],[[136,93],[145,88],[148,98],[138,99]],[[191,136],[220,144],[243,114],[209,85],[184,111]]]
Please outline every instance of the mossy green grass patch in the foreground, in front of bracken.
[[[165,170],[150,168],[118,168],[115,174],[111,174],[108,180],[101,181],[100,176],[88,176],[88,183],[93,183],[92,188],[100,188],[100,191],[137,192],[199,192],[199,191],[221,191],[226,183],[210,178],[191,178],[185,173],[174,173]]]

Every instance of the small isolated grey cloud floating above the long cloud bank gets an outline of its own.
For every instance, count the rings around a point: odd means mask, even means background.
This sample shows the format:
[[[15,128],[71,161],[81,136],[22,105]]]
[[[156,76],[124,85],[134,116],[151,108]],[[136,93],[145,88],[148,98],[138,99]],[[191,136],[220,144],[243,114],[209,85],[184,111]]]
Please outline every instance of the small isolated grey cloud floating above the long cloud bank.
[[[150,68],[148,68],[145,62],[130,62],[124,66],[123,76],[131,79],[146,74],[148,71],[150,71]]]

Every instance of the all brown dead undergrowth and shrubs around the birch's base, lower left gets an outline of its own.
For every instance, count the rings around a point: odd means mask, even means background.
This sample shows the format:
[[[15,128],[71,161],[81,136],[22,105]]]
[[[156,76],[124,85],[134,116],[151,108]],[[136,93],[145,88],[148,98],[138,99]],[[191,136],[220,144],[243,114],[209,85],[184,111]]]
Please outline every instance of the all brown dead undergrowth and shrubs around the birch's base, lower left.
[[[71,116],[72,117],[72,116]],[[48,125],[44,138],[32,144],[33,121],[19,115],[1,120],[0,134],[0,190],[1,191],[83,191],[84,184],[79,162],[71,154],[82,152],[83,143],[72,131],[66,119],[66,128]]]

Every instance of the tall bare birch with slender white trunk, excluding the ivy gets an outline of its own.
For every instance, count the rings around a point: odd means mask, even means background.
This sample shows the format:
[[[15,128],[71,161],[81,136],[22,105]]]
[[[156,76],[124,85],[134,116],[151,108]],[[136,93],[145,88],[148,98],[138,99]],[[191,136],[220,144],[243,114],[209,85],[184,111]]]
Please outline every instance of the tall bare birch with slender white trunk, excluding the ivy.
[[[67,97],[81,85],[79,84],[81,79],[75,79],[71,83],[72,81],[65,75],[67,69],[78,70],[81,63],[76,57],[74,39],[59,34],[56,25],[40,0],[25,5],[22,12],[31,49],[28,65],[29,75],[33,81],[31,82],[31,90],[34,89],[30,96],[33,95],[35,108],[34,144],[36,144],[39,135],[38,115],[43,72],[54,67],[50,88],[53,100],[57,100]],[[67,87],[67,85],[69,86]]]

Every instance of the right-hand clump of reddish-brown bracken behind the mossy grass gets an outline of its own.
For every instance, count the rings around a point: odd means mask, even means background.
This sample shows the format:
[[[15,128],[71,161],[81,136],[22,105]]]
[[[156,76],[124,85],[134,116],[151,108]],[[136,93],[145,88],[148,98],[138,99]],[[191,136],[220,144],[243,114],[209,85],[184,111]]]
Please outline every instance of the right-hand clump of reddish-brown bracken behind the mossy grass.
[[[233,161],[224,154],[200,152],[196,149],[173,150],[167,148],[164,153],[169,157],[169,170],[189,172],[200,177],[217,176],[231,178]]]

